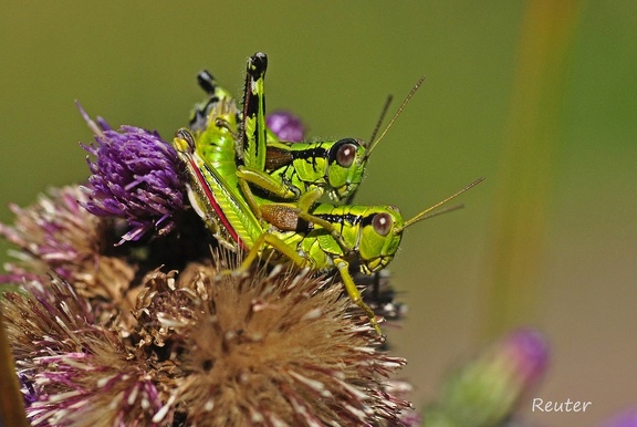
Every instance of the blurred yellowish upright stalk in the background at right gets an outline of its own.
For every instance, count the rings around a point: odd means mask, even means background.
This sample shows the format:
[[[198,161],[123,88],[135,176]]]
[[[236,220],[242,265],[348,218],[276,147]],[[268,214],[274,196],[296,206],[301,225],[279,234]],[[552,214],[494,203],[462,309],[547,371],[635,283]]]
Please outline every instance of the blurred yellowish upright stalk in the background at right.
[[[531,0],[491,217],[482,289],[483,334],[533,323],[543,274],[546,210],[554,178],[565,71],[581,2]]]

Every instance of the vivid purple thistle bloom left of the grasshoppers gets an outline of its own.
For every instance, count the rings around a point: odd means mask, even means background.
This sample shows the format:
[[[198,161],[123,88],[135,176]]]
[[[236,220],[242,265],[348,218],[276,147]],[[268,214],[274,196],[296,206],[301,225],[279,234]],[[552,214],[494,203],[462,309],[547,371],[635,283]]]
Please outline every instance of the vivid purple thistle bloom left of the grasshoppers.
[[[93,175],[83,187],[90,198],[83,206],[93,215],[128,221],[132,230],[118,244],[138,240],[150,229],[158,235],[173,230],[173,216],[184,207],[175,148],[156,132],[134,126],[106,128],[94,144],[82,147],[96,157],[86,159]]]

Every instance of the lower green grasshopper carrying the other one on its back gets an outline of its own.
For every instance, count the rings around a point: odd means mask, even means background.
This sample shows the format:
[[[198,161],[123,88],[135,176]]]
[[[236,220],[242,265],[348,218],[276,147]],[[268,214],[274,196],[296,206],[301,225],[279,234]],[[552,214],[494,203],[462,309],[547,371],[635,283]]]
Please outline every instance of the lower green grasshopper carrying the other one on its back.
[[[190,199],[208,228],[226,247],[248,251],[240,271],[258,257],[276,254],[320,272],[336,269],[351,300],[367,314],[378,334],[374,312],[363,302],[349,265],[358,264],[365,274],[384,269],[394,259],[407,227],[481,180],[408,221],[403,220],[397,208],[386,205],[313,204],[305,207],[311,216],[311,220],[305,220],[303,208],[294,204],[263,204],[264,222],[257,218],[241,191],[200,156],[192,134],[179,131],[174,146],[188,171]]]

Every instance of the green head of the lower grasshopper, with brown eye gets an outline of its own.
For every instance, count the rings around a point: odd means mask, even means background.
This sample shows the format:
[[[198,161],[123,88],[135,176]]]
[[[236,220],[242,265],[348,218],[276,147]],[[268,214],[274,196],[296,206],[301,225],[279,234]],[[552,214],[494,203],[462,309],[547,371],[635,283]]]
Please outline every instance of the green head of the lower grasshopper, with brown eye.
[[[403,239],[403,216],[394,206],[377,206],[362,225],[358,246],[361,269],[370,274],[387,267]]]

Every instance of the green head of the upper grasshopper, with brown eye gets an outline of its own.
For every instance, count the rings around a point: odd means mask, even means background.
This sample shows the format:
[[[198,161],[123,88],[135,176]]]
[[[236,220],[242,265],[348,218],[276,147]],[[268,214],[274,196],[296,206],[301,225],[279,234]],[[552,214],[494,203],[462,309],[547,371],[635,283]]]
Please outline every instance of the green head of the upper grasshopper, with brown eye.
[[[343,199],[358,187],[367,163],[366,152],[365,143],[354,138],[340,139],[330,148],[326,178],[332,199]]]

